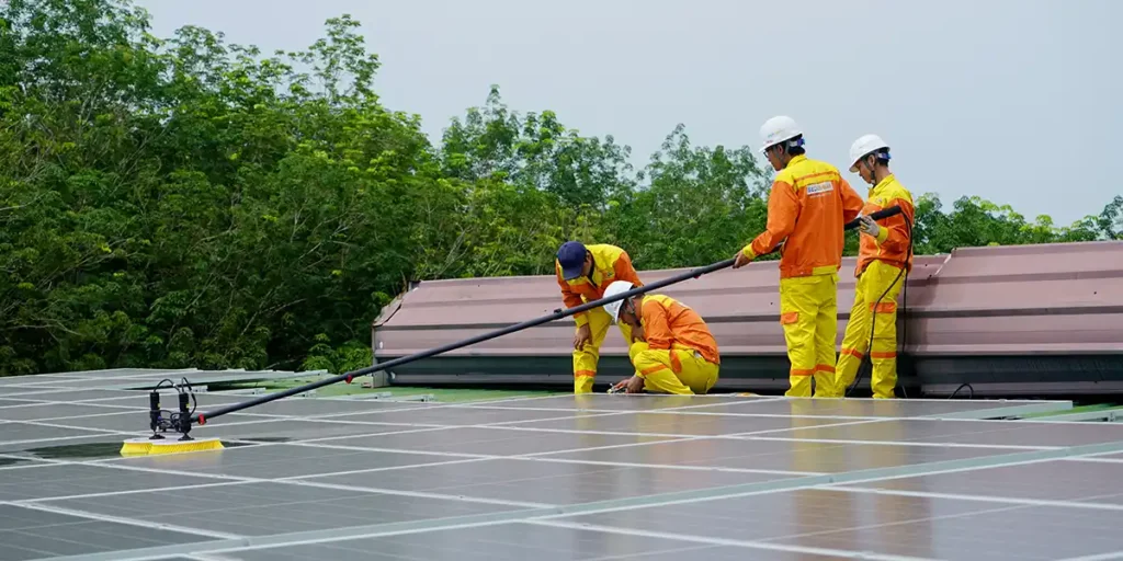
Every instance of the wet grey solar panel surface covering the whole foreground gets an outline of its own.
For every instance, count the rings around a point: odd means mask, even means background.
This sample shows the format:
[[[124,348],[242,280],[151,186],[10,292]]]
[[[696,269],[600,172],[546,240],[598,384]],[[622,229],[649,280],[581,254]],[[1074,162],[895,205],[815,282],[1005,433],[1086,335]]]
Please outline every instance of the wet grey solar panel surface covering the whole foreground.
[[[1123,559],[1123,425],[999,420],[1070,402],[291,397],[120,457],[165,376],[0,378],[0,559]]]

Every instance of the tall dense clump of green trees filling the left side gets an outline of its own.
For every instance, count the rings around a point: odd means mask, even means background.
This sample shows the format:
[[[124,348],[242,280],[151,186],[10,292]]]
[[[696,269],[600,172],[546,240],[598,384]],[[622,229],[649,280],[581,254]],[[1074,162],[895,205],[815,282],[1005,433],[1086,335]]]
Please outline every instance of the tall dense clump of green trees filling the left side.
[[[350,18],[268,58],[121,1],[2,20],[3,371],[296,366],[362,340],[432,241],[418,201],[449,186]]]

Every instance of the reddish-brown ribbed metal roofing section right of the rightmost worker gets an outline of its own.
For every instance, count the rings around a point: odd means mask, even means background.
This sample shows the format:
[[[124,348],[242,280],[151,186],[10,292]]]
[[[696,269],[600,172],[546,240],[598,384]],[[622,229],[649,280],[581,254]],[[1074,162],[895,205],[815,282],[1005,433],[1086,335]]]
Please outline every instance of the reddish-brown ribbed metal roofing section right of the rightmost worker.
[[[909,298],[906,350],[930,355],[1123,351],[1123,243],[968,248]]]

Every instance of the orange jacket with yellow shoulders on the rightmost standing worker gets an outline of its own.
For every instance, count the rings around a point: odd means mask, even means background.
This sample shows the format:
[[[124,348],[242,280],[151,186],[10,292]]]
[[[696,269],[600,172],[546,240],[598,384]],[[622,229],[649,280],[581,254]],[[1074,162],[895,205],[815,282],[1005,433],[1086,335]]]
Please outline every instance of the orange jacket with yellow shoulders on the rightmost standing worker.
[[[901,214],[878,221],[877,226],[882,228],[877,232],[876,239],[871,236],[861,237],[855,276],[861,275],[861,272],[866,270],[866,267],[875,259],[894,267],[904,266],[907,270],[912,270],[912,255],[909,251],[909,224],[913,223],[915,209],[912,194],[893,175],[882,180],[877,185],[874,185],[874,188],[869,190],[869,200],[861,213],[871,214],[889,206],[901,206]],[[907,223],[905,223],[906,219]]]

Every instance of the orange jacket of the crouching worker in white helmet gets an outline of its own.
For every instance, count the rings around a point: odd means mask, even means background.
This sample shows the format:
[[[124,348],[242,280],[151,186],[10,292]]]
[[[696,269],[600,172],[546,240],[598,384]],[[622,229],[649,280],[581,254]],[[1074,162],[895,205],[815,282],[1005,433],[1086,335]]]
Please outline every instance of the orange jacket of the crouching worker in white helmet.
[[[649,349],[696,350],[707,361],[720,364],[718,341],[702,316],[675,298],[661,294],[643,296],[640,324]]]

